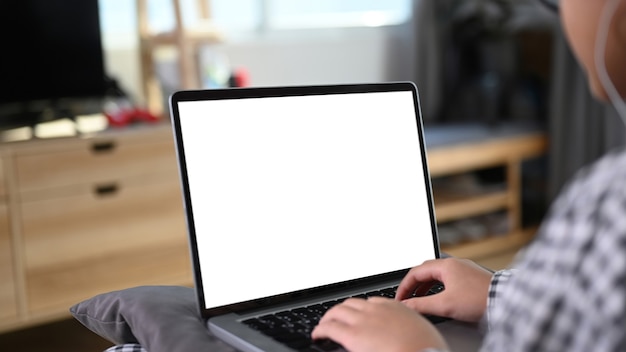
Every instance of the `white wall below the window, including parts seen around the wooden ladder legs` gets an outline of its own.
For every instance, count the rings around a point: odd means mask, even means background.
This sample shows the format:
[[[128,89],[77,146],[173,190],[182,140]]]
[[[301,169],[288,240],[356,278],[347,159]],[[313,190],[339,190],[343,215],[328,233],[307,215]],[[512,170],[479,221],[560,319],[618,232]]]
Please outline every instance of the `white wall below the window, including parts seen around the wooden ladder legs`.
[[[254,86],[412,80],[409,26],[291,31],[227,40],[209,50],[224,53],[233,67],[246,68]],[[107,72],[141,100],[136,36],[127,33],[121,41],[119,34],[105,34],[104,46]],[[176,87],[175,65],[160,67],[166,85]]]

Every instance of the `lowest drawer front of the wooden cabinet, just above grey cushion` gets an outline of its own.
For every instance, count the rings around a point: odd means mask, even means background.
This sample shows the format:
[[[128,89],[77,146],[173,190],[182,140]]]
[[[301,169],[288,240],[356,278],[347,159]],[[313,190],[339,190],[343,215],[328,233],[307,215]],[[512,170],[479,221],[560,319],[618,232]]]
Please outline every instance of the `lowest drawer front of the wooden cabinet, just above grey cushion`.
[[[28,311],[67,312],[98,294],[143,285],[193,285],[186,243],[119,250],[90,260],[29,269]]]

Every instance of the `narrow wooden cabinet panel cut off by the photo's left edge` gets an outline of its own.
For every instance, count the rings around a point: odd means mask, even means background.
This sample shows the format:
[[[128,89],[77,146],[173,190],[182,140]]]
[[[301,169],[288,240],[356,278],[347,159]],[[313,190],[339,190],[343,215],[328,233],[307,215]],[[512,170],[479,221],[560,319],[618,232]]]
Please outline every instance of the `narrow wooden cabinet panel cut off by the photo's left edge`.
[[[0,321],[17,316],[7,206],[0,203]]]

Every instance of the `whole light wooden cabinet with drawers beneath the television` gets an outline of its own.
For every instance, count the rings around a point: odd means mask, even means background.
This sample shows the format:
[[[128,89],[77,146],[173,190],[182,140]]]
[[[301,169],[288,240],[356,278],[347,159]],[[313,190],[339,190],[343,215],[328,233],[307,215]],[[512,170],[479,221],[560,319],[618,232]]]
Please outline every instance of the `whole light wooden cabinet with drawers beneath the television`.
[[[10,216],[0,203],[0,304],[15,308],[0,330],[67,317],[103,292],[193,283],[169,125],[3,147],[13,182]]]

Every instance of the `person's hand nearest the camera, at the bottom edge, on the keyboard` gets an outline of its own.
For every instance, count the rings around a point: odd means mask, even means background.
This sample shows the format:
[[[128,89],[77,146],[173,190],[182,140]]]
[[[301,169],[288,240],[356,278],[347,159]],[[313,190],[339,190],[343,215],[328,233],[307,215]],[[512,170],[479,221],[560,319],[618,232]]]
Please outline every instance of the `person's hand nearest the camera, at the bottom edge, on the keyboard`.
[[[388,298],[351,298],[331,308],[312,333],[353,352],[415,352],[447,349],[443,337],[424,317]]]

